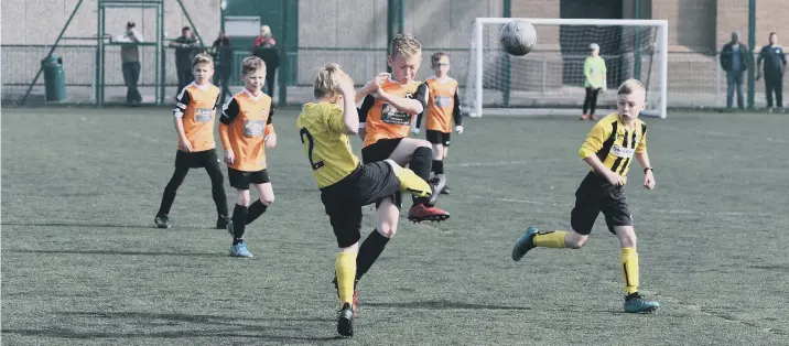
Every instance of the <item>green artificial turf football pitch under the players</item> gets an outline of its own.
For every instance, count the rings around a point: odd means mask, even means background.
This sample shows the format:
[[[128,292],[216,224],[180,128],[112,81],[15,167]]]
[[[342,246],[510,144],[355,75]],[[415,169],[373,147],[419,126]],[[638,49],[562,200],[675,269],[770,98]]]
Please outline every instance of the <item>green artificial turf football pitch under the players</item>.
[[[350,339],[335,336],[336,241],[296,115],[274,116],[277,199],[247,228],[256,257],[237,259],[213,229],[205,171],[179,190],[173,228],[153,225],[175,155],[169,109],[3,108],[2,344],[789,345],[787,115],[646,119],[657,187],[637,165],[626,187],[641,293],[661,303],[646,315],[623,313],[603,217],[583,249],[510,259],[526,227],[569,228],[592,123],[466,118],[439,202],[452,218],[402,212]],[[366,207],[363,236],[374,225]]]

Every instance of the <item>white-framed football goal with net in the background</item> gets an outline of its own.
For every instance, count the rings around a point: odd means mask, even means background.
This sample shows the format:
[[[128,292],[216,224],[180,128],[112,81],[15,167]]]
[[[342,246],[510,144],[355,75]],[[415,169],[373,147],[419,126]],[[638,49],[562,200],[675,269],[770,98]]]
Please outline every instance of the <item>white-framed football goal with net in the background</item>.
[[[596,43],[606,63],[608,88],[597,98],[596,113],[616,109],[616,88],[638,78],[647,89],[642,115],[666,118],[668,21],[522,18],[534,25],[537,45],[525,56],[512,56],[499,41],[501,26],[511,20],[474,21],[462,100],[469,116],[580,116],[583,65],[590,44]]]

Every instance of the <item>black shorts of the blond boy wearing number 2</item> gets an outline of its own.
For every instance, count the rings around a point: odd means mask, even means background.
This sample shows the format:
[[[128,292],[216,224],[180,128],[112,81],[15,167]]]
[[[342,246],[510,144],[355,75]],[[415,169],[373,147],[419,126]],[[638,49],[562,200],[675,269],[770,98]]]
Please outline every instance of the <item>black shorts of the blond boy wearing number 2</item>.
[[[347,248],[361,238],[361,207],[400,190],[400,180],[388,163],[360,165],[348,176],[321,188],[321,201],[337,237],[337,246]]]

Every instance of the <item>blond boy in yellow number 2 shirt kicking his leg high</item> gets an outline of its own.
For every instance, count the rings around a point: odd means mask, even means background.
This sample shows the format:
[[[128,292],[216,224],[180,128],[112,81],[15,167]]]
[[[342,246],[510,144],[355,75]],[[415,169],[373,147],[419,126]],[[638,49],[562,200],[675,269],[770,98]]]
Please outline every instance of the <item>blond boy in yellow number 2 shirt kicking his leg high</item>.
[[[419,197],[429,197],[432,191],[428,182],[392,160],[359,164],[348,140],[348,134],[359,129],[354,84],[337,64],[317,73],[314,96],[315,101],[302,108],[296,128],[339,247],[335,262],[341,306],[337,333],[353,336],[361,207],[398,191]]]

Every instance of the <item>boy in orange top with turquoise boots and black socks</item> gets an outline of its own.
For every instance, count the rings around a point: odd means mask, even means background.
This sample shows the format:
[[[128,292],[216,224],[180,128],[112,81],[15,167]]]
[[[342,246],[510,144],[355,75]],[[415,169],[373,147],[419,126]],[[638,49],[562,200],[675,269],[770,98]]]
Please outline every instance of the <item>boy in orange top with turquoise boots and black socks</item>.
[[[260,88],[266,79],[266,64],[259,57],[244,60],[241,78],[246,88],[225,105],[219,119],[219,136],[225,149],[227,176],[236,188],[236,207],[228,231],[233,235],[230,253],[252,257],[244,241],[246,225],[260,217],[274,202],[274,192],[266,166],[266,148],[277,145],[277,133],[271,123],[271,98]],[[260,199],[249,205],[249,184]]]

